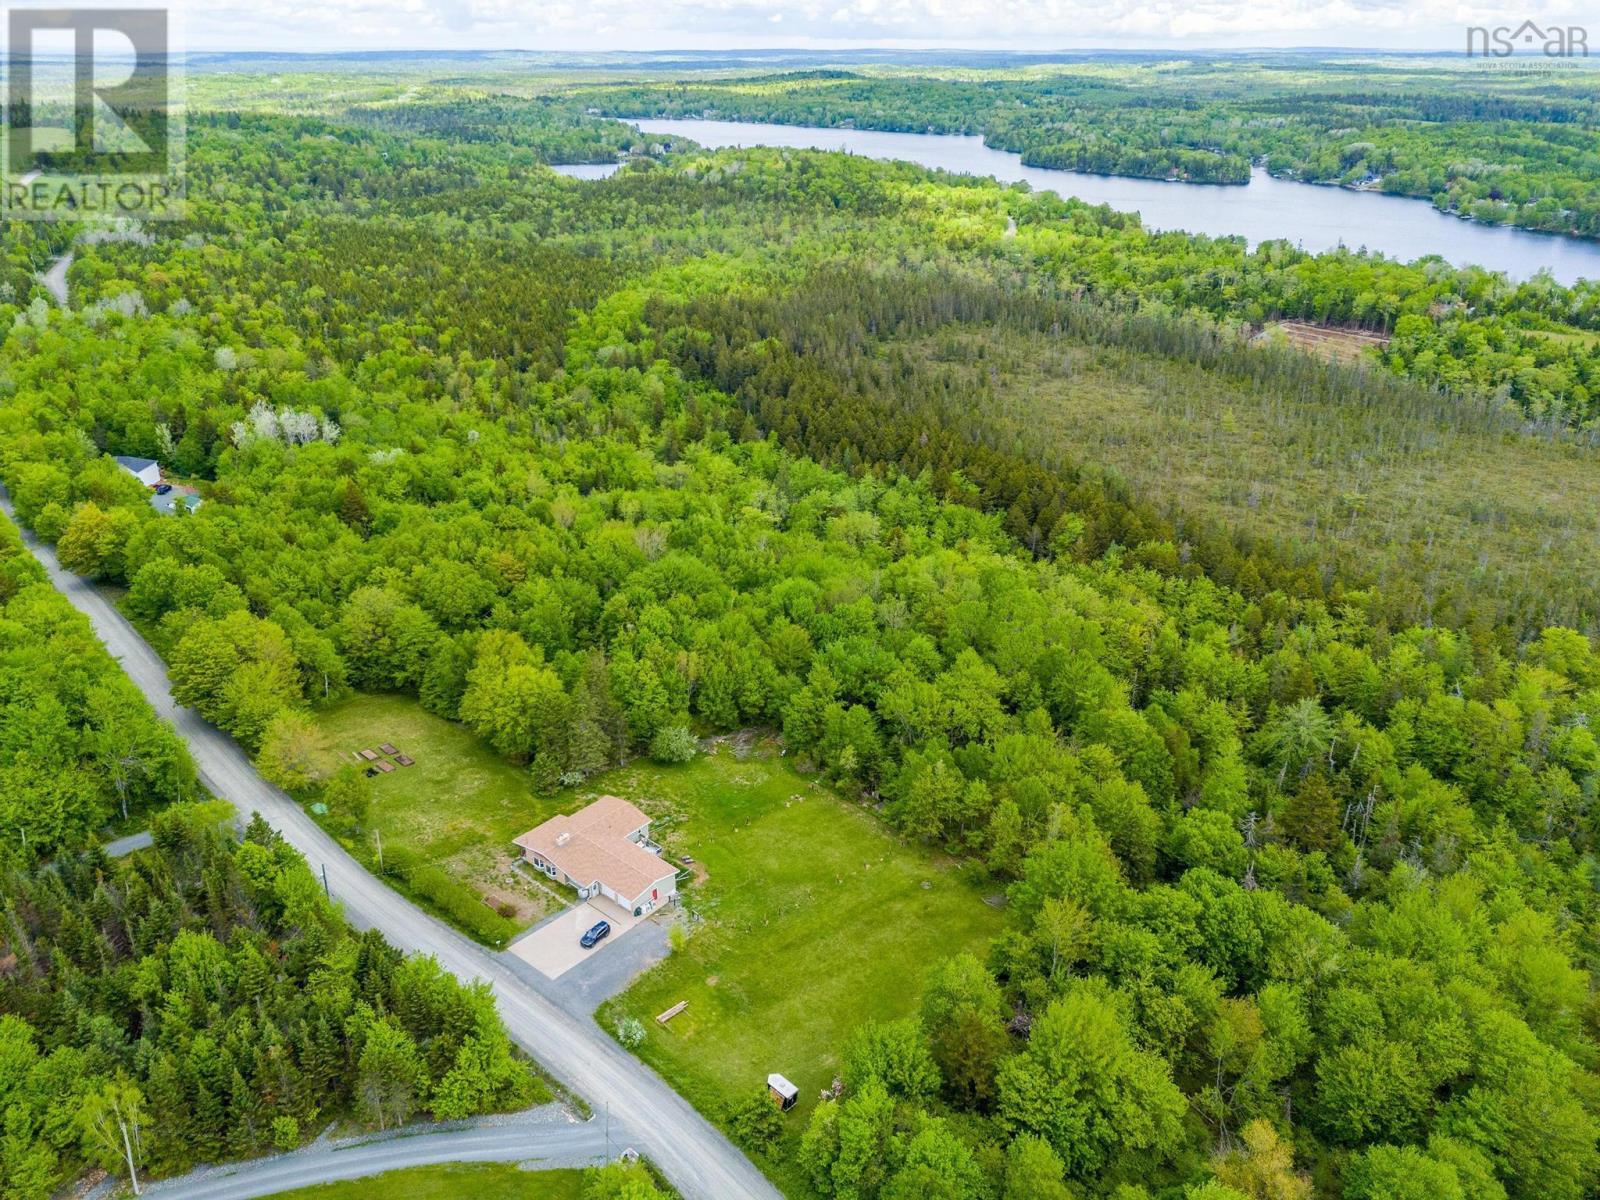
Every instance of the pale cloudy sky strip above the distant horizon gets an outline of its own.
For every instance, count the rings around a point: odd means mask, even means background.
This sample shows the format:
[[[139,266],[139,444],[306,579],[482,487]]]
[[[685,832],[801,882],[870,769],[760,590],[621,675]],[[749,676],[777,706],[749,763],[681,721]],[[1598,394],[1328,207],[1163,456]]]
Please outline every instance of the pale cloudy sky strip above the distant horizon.
[[[1517,2],[1517,0],[1514,0]],[[1594,24],[1536,0],[192,0],[192,50],[1461,50],[1472,24]]]

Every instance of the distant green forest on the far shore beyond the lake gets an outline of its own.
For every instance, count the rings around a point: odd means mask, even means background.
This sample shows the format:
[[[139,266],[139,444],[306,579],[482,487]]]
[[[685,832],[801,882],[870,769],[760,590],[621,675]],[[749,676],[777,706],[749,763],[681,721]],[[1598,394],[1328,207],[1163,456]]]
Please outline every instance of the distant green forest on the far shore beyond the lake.
[[[1029,166],[1096,174],[1242,184],[1259,162],[1307,182],[1427,198],[1474,221],[1600,237],[1600,109],[1581,74],[1261,56],[931,78],[808,70],[573,94],[621,117],[974,133]]]

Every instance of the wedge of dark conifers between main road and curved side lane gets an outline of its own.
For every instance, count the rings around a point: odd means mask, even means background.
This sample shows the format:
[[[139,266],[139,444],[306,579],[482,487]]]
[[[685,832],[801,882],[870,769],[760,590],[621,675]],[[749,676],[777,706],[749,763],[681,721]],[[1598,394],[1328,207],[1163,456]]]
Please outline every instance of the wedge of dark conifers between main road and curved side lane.
[[[149,856],[102,851],[3,877],[3,1194],[85,1165],[138,1176],[291,1150],[333,1118],[518,1107],[547,1090],[488,987],[354,934],[304,859],[214,805],[154,821]]]

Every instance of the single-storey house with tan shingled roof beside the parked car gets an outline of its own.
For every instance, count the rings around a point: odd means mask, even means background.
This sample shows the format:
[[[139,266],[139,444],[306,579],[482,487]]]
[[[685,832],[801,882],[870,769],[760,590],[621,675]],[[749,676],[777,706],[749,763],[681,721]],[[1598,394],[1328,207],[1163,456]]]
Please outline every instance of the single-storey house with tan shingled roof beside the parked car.
[[[523,861],[584,899],[605,896],[643,917],[678,893],[678,872],[650,840],[650,818],[614,795],[571,816],[552,816],[515,838]]]

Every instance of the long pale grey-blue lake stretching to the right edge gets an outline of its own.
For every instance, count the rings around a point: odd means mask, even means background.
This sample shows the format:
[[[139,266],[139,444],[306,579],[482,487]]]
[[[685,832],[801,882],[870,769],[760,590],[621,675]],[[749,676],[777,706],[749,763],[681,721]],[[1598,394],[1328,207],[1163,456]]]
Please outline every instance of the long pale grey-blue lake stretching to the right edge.
[[[1438,254],[1454,266],[1477,264],[1523,280],[1549,270],[1562,283],[1600,278],[1600,242],[1560,234],[1483,226],[1446,216],[1426,200],[1381,192],[1354,192],[1251,171],[1248,184],[1181,184],[1160,179],[1082,174],[1048,166],[1022,166],[1022,157],[992,150],[982,138],[933,133],[822,130],[806,125],[634,120],[645,133],[690,138],[701,146],[789,146],[803,150],[848,150],[867,158],[901,158],[962,174],[987,174],[1000,182],[1027,182],[1040,192],[1077,197],[1138,213],[1147,229],[1181,229],[1211,237],[1245,237],[1254,246],[1286,238],[1309,251],[1349,246],[1410,261]]]

